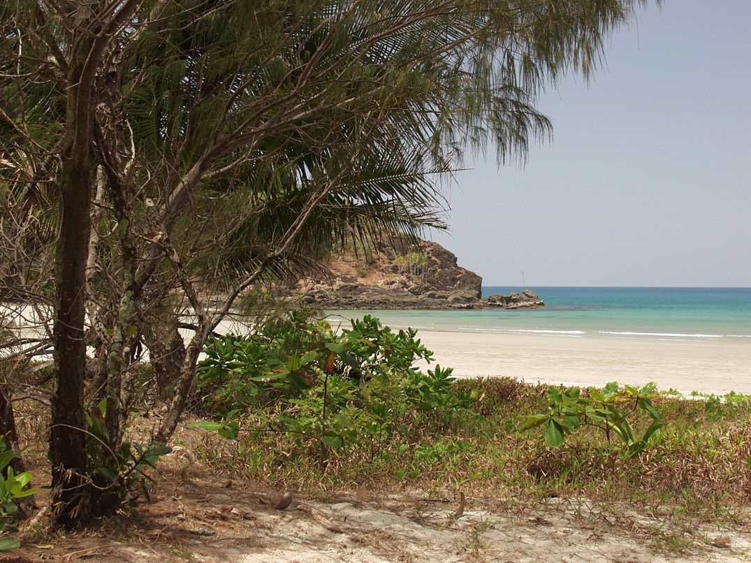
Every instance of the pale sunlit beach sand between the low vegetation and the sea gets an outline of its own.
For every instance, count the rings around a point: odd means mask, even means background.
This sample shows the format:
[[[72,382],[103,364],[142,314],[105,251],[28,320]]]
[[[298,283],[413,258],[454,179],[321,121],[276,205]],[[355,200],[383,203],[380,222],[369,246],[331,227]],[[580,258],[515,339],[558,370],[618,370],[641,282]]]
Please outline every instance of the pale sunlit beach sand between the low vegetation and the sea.
[[[458,377],[602,387],[609,381],[691,393],[751,393],[749,339],[656,340],[420,330],[434,361]],[[424,366],[424,364],[423,364]]]

